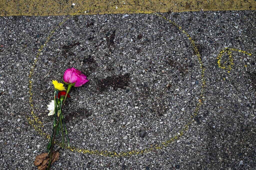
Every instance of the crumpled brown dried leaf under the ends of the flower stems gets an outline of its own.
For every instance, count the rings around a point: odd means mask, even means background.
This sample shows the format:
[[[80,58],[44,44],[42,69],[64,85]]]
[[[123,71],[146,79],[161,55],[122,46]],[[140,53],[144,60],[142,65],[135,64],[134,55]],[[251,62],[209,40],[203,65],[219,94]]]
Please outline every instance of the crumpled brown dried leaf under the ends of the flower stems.
[[[58,151],[52,152],[51,165],[59,159],[59,156],[60,154]],[[48,156],[48,153],[42,153],[36,156],[34,165],[38,166],[38,170],[45,170],[48,167],[49,160],[50,155]]]

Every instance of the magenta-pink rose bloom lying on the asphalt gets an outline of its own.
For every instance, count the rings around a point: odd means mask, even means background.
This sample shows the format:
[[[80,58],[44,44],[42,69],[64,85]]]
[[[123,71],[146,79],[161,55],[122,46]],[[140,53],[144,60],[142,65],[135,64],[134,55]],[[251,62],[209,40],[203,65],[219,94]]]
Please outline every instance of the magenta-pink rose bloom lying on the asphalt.
[[[66,83],[75,83],[75,87],[80,87],[89,81],[86,75],[81,74],[81,71],[75,68],[68,68],[64,73],[63,80]]]

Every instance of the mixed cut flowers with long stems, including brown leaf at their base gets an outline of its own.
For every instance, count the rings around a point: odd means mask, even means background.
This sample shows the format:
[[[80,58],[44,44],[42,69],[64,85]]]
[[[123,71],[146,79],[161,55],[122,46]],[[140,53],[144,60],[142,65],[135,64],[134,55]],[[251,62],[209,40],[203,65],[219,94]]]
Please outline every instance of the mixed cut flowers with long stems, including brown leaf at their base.
[[[54,85],[54,100],[51,100],[51,102],[47,105],[47,110],[49,111],[48,116],[54,115],[53,129],[49,144],[47,145],[47,153],[37,155],[36,157],[34,164],[38,166],[38,169],[49,169],[50,165],[57,160],[56,152],[53,152],[53,147],[55,137],[58,136],[59,133],[61,133],[62,136],[62,149],[64,149],[63,127],[65,129],[68,147],[70,147],[67,127],[64,122],[63,106],[65,105],[67,98],[70,98],[69,92],[71,88],[73,86],[80,87],[88,81],[89,80],[87,79],[86,75],[81,74],[81,71],[75,68],[68,68],[64,73],[63,82],[67,85],[67,90],[63,83],[59,83],[57,80],[52,80],[52,84]],[[54,159],[52,158],[52,155],[54,155]]]

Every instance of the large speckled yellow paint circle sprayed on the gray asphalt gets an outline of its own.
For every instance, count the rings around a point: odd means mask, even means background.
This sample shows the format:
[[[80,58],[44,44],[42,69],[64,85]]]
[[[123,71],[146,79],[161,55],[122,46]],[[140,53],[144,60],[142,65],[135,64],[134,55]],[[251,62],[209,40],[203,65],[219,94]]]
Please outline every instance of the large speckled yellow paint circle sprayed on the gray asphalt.
[[[200,65],[200,69],[201,69],[201,81],[202,81],[202,85],[201,85],[201,91],[200,91],[200,96],[199,96],[199,100],[197,102],[196,108],[194,110],[193,116],[191,116],[191,120],[183,126],[183,128],[172,138],[170,138],[167,141],[164,141],[162,143],[159,144],[155,144],[155,145],[151,145],[149,148],[143,149],[143,150],[132,150],[132,151],[123,151],[123,152],[113,152],[113,151],[99,151],[99,150],[87,150],[87,149],[82,149],[82,148],[76,148],[76,147],[66,147],[66,149],[69,149],[70,151],[75,151],[75,152],[81,152],[84,154],[94,154],[94,155],[102,155],[102,156],[115,156],[115,157],[119,157],[119,156],[130,156],[130,155],[136,155],[136,154],[142,154],[142,153],[148,153],[152,150],[157,150],[157,149],[162,149],[166,146],[168,146],[170,143],[174,142],[175,140],[177,140],[180,136],[184,135],[184,132],[188,130],[189,125],[191,125],[191,123],[193,123],[193,117],[195,117],[199,111],[200,106],[203,104],[204,101],[204,88],[205,88],[205,76],[204,76],[204,72],[205,72],[205,67],[202,63],[202,59],[200,56],[200,53],[198,51],[198,48],[196,47],[195,42],[193,41],[193,39],[190,37],[190,35],[182,29],[182,27],[178,26],[175,22],[168,20],[166,17],[154,13],[145,13],[145,14],[150,14],[150,15],[155,15],[158,16],[164,20],[166,20],[167,22],[170,22],[172,25],[174,25],[176,28],[178,28],[180,31],[182,31],[186,37],[188,38],[189,42],[191,43],[193,50],[197,56],[199,65]],[[34,127],[34,129],[39,132],[40,135],[50,139],[50,135],[46,134],[42,128],[44,127],[42,122],[40,121],[40,119],[36,116],[36,114],[34,113],[34,106],[33,106],[33,89],[32,89],[32,76],[34,74],[34,70],[36,67],[36,63],[38,61],[40,52],[44,49],[44,47],[46,46],[46,44],[50,41],[50,38],[53,36],[53,34],[56,32],[56,30],[63,24],[65,23],[69,18],[71,18],[71,16],[67,17],[66,19],[64,19],[61,23],[59,23],[58,26],[56,26],[48,35],[48,37],[46,38],[46,42],[44,43],[44,45],[41,45],[36,58],[34,60],[34,64],[31,67],[31,70],[29,72],[29,94],[30,94],[30,98],[29,98],[29,103],[30,103],[30,109],[31,109],[31,116],[27,117],[29,124]],[[56,144],[61,145],[61,143],[56,142]]]

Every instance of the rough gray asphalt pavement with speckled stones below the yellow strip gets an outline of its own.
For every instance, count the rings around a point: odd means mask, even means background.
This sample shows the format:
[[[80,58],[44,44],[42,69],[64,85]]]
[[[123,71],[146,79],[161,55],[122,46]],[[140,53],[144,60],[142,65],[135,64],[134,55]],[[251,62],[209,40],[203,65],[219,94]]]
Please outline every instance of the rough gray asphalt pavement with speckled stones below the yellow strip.
[[[163,15],[190,34],[206,67],[205,101],[195,121],[161,150],[108,157],[65,149],[52,169],[255,168],[256,11]],[[202,81],[188,38],[158,16],[123,16],[73,16],[51,37],[32,76],[34,112],[46,133],[51,133],[53,120],[46,106],[53,96],[51,80],[61,81],[70,67],[90,79],[71,90],[65,106],[71,146],[118,153],[143,150],[172,138],[191,121]],[[0,18],[3,169],[37,169],[35,156],[46,152],[47,139],[27,121],[28,75],[37,50],[66,17]],[[225,47],[252,56],[233,52],[234,65],[228,73],[216,59]],[[54,59],[49,76],[42,79]],[[141,130],[145,130],[143,138]]]

